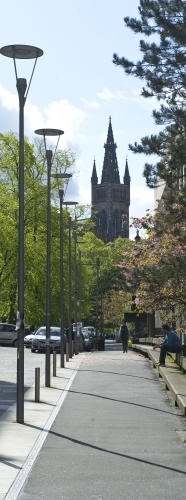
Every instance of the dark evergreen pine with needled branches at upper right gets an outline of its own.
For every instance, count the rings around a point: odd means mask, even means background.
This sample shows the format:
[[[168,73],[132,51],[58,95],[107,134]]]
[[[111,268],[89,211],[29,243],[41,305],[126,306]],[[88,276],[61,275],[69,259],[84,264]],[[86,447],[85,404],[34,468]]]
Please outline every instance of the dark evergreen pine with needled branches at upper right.
[[[154,187],[157,177],[171,185],[179,178],[185,163],[186,135],[186,2],[183,0],[140,0],[140,19],[125,17],[125,25],[152,43],[140,41],[142,60],[133,63],[125,57],[113,56],[127,75],[146,81],[142,96],[155,96],[160,110],[153,111],[156,124],[166,125],[158,135],[129,145],[134,153],[156,154],[156,165],[145,164],[147,185]]]

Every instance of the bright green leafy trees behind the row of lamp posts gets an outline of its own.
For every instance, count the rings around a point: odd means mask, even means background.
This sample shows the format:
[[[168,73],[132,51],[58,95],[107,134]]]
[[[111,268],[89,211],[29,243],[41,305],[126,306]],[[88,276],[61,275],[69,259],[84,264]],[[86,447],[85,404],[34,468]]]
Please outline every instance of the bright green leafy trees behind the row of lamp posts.
[[[43,142],[31,144],[27,138],[25,148],[25,321],[35,328],[46,324],[46,238],[47,238],[47,168]],[[74,162],[71,151],[58,151],[51,173],[64,173]],[[0,317],[15,322],[18,309],[18,187],[19,141],[16,135],[0,134]],[[51,323],[60,324],[60,217],[59,187],[61,180],[51,179]],[[130,249],[128,240],[118,238],[105,245],[91,232],[93,222],[90,207],[78,205],[75,210],[63,209],[64,251],[64,316],[68,324],[69,287],[69,231],[68,217],[72,217],[71,286],[72,318],[75,316],[75,290],[77,320],[87,319],[95,324],[96,301],[107,295],[111,300],[122,288],[121,270],[118,267],[123,252]],[[82,243],[82,245],[81,245]],[[76,270],[75,270],[76,244]],[[119,296],[119,295],[118,295]],[[117,301],[118,302],[118,301]],[[121,301],[122,302],[122,301]],[[112,304],[114,306],[114,304]],[[118,304],[117,304],[118,306]],[[119,317],[123,305],[118,308]],[[117,324],[114,311],[112,324]],[[100,313],[99,313],[100,319]]]

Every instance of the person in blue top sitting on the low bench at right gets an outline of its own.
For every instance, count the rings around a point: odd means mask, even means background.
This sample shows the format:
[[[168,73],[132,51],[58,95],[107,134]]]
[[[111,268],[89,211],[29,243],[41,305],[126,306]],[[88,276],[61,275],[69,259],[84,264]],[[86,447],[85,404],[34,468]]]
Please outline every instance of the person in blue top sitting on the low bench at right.
[[[163,333],[165,334],[165,338],[163,342],[160,342],[160,344],[154,345],[153,349],[155,350],[157,349],[157,347],[160,348],[160,358],[158,365],[165,366],[165,358],[167,352],[174,352],[174,353],[181,352],[182,343],[177,334],[175,332],[172,332],[169,325],[163,324],[162,330]]]

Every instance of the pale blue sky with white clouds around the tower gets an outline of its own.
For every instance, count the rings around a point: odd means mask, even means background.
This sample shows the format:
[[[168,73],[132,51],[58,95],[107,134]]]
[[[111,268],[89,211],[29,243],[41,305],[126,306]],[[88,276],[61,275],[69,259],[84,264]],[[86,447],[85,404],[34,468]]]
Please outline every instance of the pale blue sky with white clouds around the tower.
[[[94,156],[99,182],[109,116],[117,143],[122,182],[126,155],[131,175],[130,217],[153,209],[153,191],[142,176],[146,161],[128,144],[157,133],[152,110],[157,103],[140,97],[144,82],[127,77],[112,63],[113,53],[140,58],[138,35],[125,28],[125,16],[138,17],[138,0],[7,0],[1,5],[0,46],[33,45],[38,59],[25,106],[25,133],[53,127],[64,130],[60,148],[76,153],[76,174],[67,197],[90,203]],[[29,81],[32,62],[18,61],[18,77]],[[0,56],[0,132],[18,132],[18,97],[13,61]],[[130,231],[131,236],[134,230]]]

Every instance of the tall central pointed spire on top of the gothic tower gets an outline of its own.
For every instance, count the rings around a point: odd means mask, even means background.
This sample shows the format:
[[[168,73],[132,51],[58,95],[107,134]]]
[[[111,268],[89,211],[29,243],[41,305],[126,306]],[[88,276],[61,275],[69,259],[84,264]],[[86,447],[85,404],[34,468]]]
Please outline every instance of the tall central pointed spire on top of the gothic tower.
[[[120,184],[118,162],[116,156],[117,144],[114,142],[111,116],[109,117],[107,142],[104,144],[104,148],[105,148],[105,156],[103,162],[101,184],[105,182],[110,182],[112,184]]]

